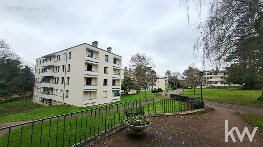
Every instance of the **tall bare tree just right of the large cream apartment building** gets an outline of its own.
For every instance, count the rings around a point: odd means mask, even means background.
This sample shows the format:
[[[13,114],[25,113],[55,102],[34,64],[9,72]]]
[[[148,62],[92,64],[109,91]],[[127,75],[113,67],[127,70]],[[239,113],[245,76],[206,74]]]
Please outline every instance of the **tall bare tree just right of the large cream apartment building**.
[[[152,57],[145,53],[136,53],[131,57],[129,65],[133,71],[135,71],[134,77],[136,82],[138,86],[144,90],[144,98],[146,98],[146,89],[149,88],[150,85],[149,77],[152,73],[152,68],[155,67]]]

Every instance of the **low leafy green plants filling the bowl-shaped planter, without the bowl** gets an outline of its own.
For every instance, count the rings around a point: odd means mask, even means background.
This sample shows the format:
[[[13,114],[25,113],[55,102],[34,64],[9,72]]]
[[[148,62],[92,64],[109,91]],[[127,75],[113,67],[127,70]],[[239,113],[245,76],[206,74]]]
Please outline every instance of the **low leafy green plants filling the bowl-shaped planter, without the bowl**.
[[[133,126],[146,126],[151,123],[150,120],[142,116],[130,116],[125,121],[129,125],[133,125]]]

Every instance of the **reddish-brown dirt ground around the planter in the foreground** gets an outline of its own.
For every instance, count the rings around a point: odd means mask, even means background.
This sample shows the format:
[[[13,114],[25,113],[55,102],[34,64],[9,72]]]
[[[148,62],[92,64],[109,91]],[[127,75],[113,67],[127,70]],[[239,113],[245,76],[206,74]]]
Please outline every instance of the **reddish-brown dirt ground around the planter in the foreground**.
[[[230,136],[228,142],[225,142],[225,120],[228,120],[228,131],[232,127],[238,127],[242,133],[244,127],[248,127],[251,134],[254,127],[250,126],[240,115],[235,114],[234,109],[214,107],[215,110],[202,114],[152,117],[152,125],[145,129],[143,135],[139,137],[134,136],[126,127],[91,146],[263,146],[263,134],[259,130],[256,131],[252,142],[249,141],[247,135],[240,142],[235,131],[233,134],[236,142],[233,142]]]

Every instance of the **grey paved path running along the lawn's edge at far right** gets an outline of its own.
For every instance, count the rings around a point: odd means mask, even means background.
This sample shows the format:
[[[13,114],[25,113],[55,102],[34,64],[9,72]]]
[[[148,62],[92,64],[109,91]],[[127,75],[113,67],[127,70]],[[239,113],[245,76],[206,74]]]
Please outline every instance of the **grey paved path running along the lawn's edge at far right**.
[[[215,101],[208,101],[204,100],[205,104],[208,106],[220,106],[224,108],[231,108],[238,110],[240,112],[250,112],[250,113],[256,113],[256,114],[261,114],[263,115],[263,109],[260,108],[254,108],[254,107],[247,107],[247,106],[240,106],[240,105],[232,105],[232,104],[225,104],[225,103],[220,103],[220,102],[215,102]]]

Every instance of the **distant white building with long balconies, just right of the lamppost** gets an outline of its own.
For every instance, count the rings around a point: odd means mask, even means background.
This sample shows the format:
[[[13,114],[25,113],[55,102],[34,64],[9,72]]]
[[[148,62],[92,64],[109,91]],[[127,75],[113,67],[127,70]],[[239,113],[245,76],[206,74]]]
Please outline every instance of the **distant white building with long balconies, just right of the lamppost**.
[[[227,75],[226,70],[203,70],[204,76],[204,84],[203,88],[211,87],[211,86],[229,86],[225,83]],[[240,86],[240,84],[231,84],[231,86]],[[201,88],[201,85],[196,88]]]

